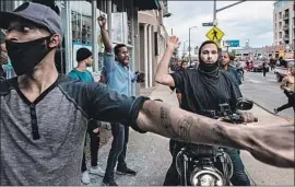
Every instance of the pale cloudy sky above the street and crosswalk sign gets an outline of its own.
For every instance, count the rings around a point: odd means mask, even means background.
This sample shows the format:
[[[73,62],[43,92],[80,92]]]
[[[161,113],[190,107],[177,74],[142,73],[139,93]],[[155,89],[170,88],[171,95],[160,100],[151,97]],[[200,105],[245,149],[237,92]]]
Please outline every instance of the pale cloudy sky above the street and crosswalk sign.
[[[216,8],[238,1],[217,1]],[[235,7],[217,12],[217,27],[224,32],[223,39],[239,39],[244,47],[249,40],[251,47],[270,46],[273,43],[273,3],[274,1],[246,1]],[[184,42],[189,38],[191,31],[191,48],[206,40],[205,34],[211,27],[202,23],[213,21],[213,1],[168,1],[168,12],[173,15],[164,19],[168,34],[178,36]],[[188,48],[188,42],[186,42]]]

